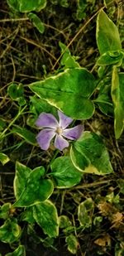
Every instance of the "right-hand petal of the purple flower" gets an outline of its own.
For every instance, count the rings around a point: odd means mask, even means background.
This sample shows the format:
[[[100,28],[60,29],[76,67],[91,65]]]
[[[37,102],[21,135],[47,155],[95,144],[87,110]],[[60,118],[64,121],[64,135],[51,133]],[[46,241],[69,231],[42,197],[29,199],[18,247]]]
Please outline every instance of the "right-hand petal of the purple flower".
[[[80,137],[81,133],[83,133],[83,125],[79,124],[79,125],[75,126],[74,128],[64,129],[63,136],[65,138],[75,140]]]

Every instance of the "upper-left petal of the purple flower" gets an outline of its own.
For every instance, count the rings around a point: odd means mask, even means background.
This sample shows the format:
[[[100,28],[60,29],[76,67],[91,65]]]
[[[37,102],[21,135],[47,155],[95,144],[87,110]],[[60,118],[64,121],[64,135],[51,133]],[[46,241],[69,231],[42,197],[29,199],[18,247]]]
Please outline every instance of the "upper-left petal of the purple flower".
[[[43,128],[56,128],[59,126],[59,123],[53,114],[47,114],[43,112],[36,120],[36,126]]]

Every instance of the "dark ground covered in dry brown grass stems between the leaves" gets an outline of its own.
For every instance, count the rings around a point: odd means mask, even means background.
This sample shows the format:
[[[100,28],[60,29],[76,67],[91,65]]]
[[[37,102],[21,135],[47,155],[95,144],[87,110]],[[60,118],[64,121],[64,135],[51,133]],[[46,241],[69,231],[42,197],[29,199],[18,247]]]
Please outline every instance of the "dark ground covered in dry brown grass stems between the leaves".
[[[33,27],[29,20],[18,20],[12,22],[12,18],[18,19],[25,17],[20,14],[20,17],[15,17],[15,14],[10,12],[7,7],[6,1],[0,2],[0,42],[1,42],[1,56],[0,56],[0,115],[7,122],[10,123],[12,118],[17,114],[17,103],[12,101],[7,95],[7,86],[12,81],[28,85],[33,81],[41,80],[47,74],[54,73],[59,68],[59,62],[57,61],[60,57],[59,41],[62,41],[66,46],[73,41],[69,50],[73,56],[79,57],[79,65],[93,71],[93,75],[97,75],[97,70],[94,67],[95,61],[98,57],[98,47],[95,39],[96,30],[96,17],[93,17],[100,7],[103,7],[103,1],[96,1],[93,6],[90,1],[88,7],[85,10],[85,18],[79,21],[76,18],[76,1],[70,1],[69,7],[61,7],[59,4],[54,5],[48,1],[47,7],[38,13],[41,20],[45,23],[45,32],[41,35],[36,28]],[[122,1],[113,1],[112,6],[107,8],[109,17],[112,18],[113,22],[118,21],[118,27],[122,36]],[[118,14],[119,13],[119,14]],[[9,19],[9,20],[8,20]],[[88,22],[89,20],[89,22]],[[87,26],[84,24],[88,22]],[[84,26],[84,28],[83,28]],[[80,28],[83,28],[79,33]],[[75,36],[75,37],[74,37]],[[21,117],[18,122],[20,125],[25,126],[26,120],[29,117],[29,96],[31,91],[25,89],[25,96],[28,102],[27,112]],[[114,191],[115,195],[119,191],[118,181],[123,177],[123,154],[124,154],[124,142],[122,137],[116,141],[113,131],[113,118],[103,116],[102,113],[97,109],[93,118],[86,121],[85,128],[91,131],[99,131],[103,134],[105,143],[107,145],[114,174],[108,177],[89,176],[86,175],[83,180],[83,184],[86,185],[82,189],[74,188],[74,190],[61,190],[59,194],[53,196],[55,205],[60,213],[61,200],[64,195],[64,205],[62,214],[74,215],[75,225],[78,223],[76,219],[75,205],[77,200],[87,198],[91,196],[93,200],[97,200],[98,196],[104,198],[110,192]],[[7,153],[11,158],[11,162],[8,162],[4,169],[0,165],[0,171],[2,172],[0,179],[1,186],[1,203],[13,202],[13,178],[15,161],[19,161],[28,164],[29,167],[36,167],[36,164],[41,160],[46,163],[50,161],[50,154],[40,152],[39,147],[32,147],[25,143],[20,145],[20,139],[12,134],[4,139],[0,149],[2,152]],[[16,147],[13,147],[16,145]],[[18,147],[19,145],[19,147]],[[108,179],[108,181],[107,181]],[[101,183],[105,181],[105,183]],[[97,185],[95,182],[98,182]],[[89,185],[91,184],[91,186]],[[89,185],[87,187],[87,185]],[[64,194],[65,193],[65,194]],[[85,229],[78,231],[79,239],[79,251],[77,255],[83,256],[96,256],[96,255],[115,255],[115,244],[123,244],[124,226],[121,222],[112,222],[109,218],[109,213],[112,210],[111,207],[118,207],[117,210],[122,213],[123,210],[123,196],[120,194],[121,200],[119,205],[106,205],[101,206],[101,209],[96,205],[97,210],[103,215],[103,222],[97,228],[92,227],[91,229]],[[110,208],[109,208],[110,207]],[[114,226],[113,226],[114,225]],[[36,227],[37,228],[37,227]],[[40,232],[37,228],[37,234]],[[97,239],[105,241],[103,245]],[[105,240],[105,238],[107,238]],[[35,239],[27,234],[22,239],[22,244],[26,245],[27,256],[68,256],[67,245],[65,244],[64,233],[61,232],[60,237],[55,239],[54,247],[57,249],[48,249],[42,244],[36,244]],[[111,241],[111,242],[110,242]],[[110,242],[110,243],[109,243]],[[0,253],[2,256],[13,250],[7,244],[0,244]],[[122,256],[124,254],[117,254],[116,256]]]

